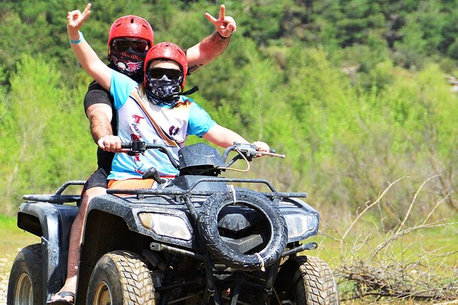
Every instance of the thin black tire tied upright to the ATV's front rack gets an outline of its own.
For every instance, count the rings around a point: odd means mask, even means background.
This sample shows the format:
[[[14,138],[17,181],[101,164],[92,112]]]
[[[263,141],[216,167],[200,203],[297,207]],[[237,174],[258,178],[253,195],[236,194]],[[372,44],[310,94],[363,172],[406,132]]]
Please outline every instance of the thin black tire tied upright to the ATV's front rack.
[[[258,253],[264,261],[264,267],[268,267],[281,258],[288,242],[288,228],[285,218],[277,205],[268,200],[266,196],[250,189],[236,188],[235,191],[237,204],[255,209],[264,215],[270,226],[270,239],[266,247]],[[262,262],[259,260],[259,256],[242,254],[232,250],[218,233],[218,214],[221,209],[233,203],[232,191],[220,191],[205,200],[199,214],[199,233],[209,253],[221,263],[244,271],[260,269]]]

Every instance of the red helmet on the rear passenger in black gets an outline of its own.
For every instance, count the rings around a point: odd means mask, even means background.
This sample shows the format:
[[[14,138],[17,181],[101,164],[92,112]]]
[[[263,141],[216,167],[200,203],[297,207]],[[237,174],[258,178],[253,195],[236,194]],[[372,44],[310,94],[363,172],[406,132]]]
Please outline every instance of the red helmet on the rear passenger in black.
[[[110,59],[110,45],[112,40],[119,37],[131,37],[147,40],[149,47],[154,44],[154,32],[151,25],[144,18],[127,15],[118,18],[110,27],[108,34],[108,59]]]

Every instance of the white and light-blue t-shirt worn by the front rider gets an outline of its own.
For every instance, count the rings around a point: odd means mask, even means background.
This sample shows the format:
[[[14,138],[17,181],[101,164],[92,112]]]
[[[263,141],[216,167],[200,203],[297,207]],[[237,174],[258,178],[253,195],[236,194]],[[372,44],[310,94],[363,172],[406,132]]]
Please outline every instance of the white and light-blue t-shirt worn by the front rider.
[[[201,137],[216,124],[204,109],[186,96],[180,96],[175,107],[151,103],[142,84],[115,70],[112,71],[110,94],[114,98],[121,142],[140,139],[147,144],[163,144],[176,160],[187,135]],[[173,177],[178,174],[166,154],[150,149],[144,155],[116,153],[107,178],[141,178],[152,167],[157,169],[160,176]]]

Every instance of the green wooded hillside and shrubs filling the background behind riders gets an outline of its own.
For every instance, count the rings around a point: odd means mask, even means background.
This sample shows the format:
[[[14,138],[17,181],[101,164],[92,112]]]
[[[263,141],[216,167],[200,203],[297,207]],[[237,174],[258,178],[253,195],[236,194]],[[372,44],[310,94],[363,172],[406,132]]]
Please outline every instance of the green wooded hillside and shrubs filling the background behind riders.
[[[257,160],[251,176],[307,191],[331,222],[409,176],[383,198],[381,213],[394,223],[418,185],[440,174],[416,215],[444,196],[437,217],[457,213],[457,96],[444,76],[457,74],[458,1],[224,3],[238,31],[188,88],[199,85],[192,97],[217,122],[287,155]],[[155,42],[191,47],[214,30],[203,14],[217,16],[219,4],[95,0],[84,36],[105,58],[111,23],[137,14],[153,25]],[[66,13],[85,5],[2,1],[0,213],[13,215],[23,194],[53,192],[96,168],[82,105],[90,78],[66,37]]]

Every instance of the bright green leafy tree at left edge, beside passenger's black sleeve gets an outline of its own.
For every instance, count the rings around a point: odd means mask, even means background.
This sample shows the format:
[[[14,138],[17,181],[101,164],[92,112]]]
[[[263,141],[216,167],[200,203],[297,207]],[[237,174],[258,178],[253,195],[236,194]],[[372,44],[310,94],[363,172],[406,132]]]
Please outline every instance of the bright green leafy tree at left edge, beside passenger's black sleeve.
[[[69,93],[60,83],[60,72],[40,57],[24,55],[16,69],[0,121],[2,213],[11,213],[22,194],[86,178],[95,165],[94,154],[84,153],[94,147],[88,123],[81,106],[75,107],[81,105],[84,89],[77,96]],[[94,165],[81,166],[86,164]]]

